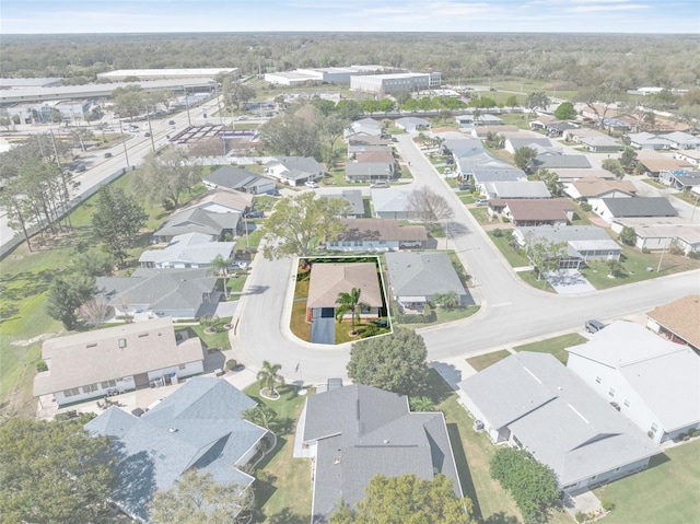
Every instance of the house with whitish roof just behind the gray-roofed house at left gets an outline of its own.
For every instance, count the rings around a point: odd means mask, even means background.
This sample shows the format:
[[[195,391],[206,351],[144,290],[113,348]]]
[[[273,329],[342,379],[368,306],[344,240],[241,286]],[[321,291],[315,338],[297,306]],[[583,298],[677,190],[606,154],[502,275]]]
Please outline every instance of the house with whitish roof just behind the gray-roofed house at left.
[[[174,236],[162,249],[147,249],[139,257],[145,268],[208,268],[221,256],[224,260],[233,256],[235,242],[212,242],[203,233],[186,233]]]

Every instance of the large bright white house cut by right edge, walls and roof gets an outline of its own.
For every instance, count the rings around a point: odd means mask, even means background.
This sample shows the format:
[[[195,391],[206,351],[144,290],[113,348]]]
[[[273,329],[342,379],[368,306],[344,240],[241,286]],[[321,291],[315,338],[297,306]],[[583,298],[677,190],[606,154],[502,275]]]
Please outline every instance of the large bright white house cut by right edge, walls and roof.
[[[700,357],[687,346],[618,321],[568,351],[569,370],[655,444],[700,429]]]

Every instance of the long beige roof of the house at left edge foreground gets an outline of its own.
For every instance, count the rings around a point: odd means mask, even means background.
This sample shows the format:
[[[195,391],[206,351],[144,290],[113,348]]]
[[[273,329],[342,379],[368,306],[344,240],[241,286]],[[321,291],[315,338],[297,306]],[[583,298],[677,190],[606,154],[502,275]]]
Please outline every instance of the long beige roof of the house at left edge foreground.
[[[49,369],[34,379],[35,396],[197,362],[205,354],[197,337],[177,343],[173,319],[164,317],[49,338],[42,358]]]

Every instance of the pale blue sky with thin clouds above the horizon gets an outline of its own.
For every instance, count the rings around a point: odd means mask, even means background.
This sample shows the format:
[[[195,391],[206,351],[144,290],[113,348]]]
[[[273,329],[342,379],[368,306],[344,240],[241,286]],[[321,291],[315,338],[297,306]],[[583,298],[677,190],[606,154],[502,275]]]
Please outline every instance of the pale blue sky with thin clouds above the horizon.
[[[700,0],[2,0],[0,34],[700,34]]]

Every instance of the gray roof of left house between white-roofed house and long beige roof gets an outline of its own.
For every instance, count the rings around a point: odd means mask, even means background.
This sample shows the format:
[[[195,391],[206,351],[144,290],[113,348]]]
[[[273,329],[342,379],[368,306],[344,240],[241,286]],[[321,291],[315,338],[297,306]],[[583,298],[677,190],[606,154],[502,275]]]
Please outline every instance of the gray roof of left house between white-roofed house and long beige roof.
[[[209,270],[139,268],[129,277],[97,277],[98,295],[108,304],[144,304],[150,310],[191,310],[211,293],[217,277]]]

